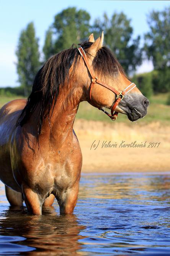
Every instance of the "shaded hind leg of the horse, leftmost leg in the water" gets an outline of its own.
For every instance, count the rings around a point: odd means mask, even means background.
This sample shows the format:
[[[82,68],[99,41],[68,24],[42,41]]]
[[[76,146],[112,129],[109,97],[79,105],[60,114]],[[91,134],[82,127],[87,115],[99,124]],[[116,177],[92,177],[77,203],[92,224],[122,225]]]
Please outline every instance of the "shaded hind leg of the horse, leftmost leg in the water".
[[[22,193],[12,190],[5,185],[5,193],[11,206],[23,206]]]

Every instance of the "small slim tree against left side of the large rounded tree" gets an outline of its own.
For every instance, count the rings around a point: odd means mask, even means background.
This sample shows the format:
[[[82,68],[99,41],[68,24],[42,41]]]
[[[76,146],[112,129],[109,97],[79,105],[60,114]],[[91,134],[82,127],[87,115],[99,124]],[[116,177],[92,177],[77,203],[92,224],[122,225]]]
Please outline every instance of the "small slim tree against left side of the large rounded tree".
[[[46,61],[48,58],[54,55],[54,43],[52,40],[52,35],[53,35],[52,29],[49,28],[46,31],[46,38],[45,38],[44,47],[43,47],[44,61]]]

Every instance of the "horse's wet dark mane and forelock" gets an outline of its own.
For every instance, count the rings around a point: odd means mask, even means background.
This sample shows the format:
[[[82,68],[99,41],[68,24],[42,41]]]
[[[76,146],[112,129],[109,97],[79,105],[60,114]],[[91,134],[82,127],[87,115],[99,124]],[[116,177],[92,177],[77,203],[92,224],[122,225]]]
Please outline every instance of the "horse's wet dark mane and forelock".
[[[80,44],[85,50],[92,45],[91,42]],[[72,74],[74,74],[79,52],[76,47],[71,47],[49,58],[38,71],[33,82],[32,92],[28,97],[25,108],[18,118],[16,126],[23,126],[39,105],[37,134],[41,132],[43,119],[48,116],[55,106],[59,90],[64,85],[65,79],[69,80],[69,69],[74,62]],[[116,76],[119,72],[124,74],[122,66],[107,47],[98,50],[93,59],[93,68],[96,73],[105,76]],[[125,74],[124,74],[125,75]]]

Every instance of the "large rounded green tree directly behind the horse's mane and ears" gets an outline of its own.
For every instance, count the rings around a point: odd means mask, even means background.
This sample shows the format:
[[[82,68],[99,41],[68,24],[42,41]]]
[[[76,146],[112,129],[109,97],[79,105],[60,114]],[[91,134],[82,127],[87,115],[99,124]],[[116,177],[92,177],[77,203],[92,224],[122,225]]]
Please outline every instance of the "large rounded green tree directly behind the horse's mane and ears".
[[[80,43],[87,39],[89,33],[90,15],[85,10],[75,7],[62,10],[54,17],[54,35],[56,42],[54,50],[60,52],[70,48],[73,43]]]

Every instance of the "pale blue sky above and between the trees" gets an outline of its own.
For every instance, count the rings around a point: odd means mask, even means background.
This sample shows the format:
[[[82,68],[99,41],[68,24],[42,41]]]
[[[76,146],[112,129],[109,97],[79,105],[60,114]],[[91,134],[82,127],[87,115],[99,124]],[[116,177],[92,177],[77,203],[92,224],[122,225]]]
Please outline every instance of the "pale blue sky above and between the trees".
[[[104,12],[111,17],[114,12],[123,11],[131,18],[135,37],[148,31],[146,15],[152,10],[163,10],[170,6],[170,1],[0,0],[0,87],[18,85],[15,50],[21,30],[33,21],[42,49],[45,32],[54,21],[54,15],[73,6],[87,10],[92,17],[91,22],[97,17],[102,17]],[[149,62],[144,62],[137,68],[138,73],[149,70],[152,70],[152,64]]]

